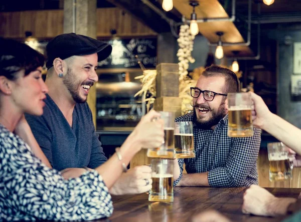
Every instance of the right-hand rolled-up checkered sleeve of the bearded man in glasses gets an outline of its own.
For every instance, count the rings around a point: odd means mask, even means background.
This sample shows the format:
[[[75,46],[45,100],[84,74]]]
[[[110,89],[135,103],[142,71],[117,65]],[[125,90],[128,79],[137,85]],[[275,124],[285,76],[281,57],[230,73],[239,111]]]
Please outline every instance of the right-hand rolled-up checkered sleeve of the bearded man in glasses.
[[[215,187],[239,187],[252,184],[246,177],[251,170],[256,170],[260,148],[261,130],[254,128],[252,137],[233,138],[231,151],[225,166],[208,172],[208,182]],[[253,184],[257,184],[254,178]]]

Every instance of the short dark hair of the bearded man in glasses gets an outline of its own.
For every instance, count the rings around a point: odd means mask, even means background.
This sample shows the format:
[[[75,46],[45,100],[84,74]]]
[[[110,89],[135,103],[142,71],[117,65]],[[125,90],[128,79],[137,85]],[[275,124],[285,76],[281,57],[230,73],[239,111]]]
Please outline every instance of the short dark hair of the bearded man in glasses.
[[[223,68],[217,65],[211,65],[202,73],[202,75],[205,77],[225,77],[226,86],[224,88],[224,93],[236,93],[240,91],[239,80],[235,73],[230,69]]]

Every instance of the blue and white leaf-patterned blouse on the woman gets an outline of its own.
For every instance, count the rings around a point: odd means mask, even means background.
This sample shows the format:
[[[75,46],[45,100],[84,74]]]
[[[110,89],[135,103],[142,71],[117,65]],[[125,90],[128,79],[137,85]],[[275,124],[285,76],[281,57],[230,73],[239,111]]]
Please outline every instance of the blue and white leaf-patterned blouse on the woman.
[[[0,221],[91,220],[112,211],[108,188],[95,170],[65,180],[0,124]]]

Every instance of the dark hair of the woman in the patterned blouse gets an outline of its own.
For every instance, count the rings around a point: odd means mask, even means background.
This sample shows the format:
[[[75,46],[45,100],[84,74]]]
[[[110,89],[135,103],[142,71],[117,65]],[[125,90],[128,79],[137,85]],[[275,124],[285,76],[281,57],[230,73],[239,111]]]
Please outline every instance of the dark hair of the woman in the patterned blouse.
[[[24,43],[0,38],[0,76],[10,80],[24,70],[25,76],[43,66],[44,56]]]

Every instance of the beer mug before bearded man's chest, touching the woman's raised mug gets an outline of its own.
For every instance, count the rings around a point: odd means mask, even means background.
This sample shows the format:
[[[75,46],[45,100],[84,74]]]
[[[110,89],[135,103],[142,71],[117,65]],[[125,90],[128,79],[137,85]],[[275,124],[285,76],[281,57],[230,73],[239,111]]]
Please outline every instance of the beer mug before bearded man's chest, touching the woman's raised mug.
[[[192,122],[175,123],[175,156],[176,158],[194,158]]]

